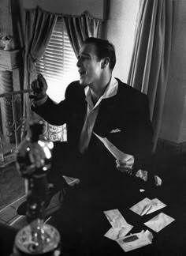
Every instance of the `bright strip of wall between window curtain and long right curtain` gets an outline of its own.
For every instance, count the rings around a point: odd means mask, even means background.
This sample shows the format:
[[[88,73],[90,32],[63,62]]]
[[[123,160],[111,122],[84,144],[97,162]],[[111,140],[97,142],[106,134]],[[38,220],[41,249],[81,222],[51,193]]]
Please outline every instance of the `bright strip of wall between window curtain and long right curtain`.
[[[113,75],[127,82],[132,57],[139,0],[110,0],[105,36],[116,47],[117,64]]]

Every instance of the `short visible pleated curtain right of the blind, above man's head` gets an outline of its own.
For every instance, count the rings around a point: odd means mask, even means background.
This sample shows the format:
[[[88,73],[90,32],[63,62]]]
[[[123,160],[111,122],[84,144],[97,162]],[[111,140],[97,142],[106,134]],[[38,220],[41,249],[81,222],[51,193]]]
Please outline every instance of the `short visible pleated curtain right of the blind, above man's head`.
[[[91,17],[88,12],[84,12],[80,16],[65,16],[64,21],[76,56],[87,37],[102,36],[102,21]]]

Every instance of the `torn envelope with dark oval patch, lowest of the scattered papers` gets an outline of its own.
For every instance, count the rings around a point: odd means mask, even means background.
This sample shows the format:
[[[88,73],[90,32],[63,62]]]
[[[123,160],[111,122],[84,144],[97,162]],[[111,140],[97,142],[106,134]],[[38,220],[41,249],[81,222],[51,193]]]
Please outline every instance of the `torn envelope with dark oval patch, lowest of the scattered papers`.
[[[132,238],[134,238],[134,240],[132,240]],[[152,233],[146,230],[146,232],[142,231],[140,233],[125,236],[124,239],[117,239],[117,243],[127,252],[151,244],[152,239]]]

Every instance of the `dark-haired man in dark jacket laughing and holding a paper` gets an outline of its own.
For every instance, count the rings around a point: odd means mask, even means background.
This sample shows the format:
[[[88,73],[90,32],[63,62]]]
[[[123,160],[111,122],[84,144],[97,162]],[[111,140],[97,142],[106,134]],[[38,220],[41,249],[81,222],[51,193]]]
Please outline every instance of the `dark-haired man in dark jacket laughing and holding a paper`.
[[[88,192],[96,187],[98,195],[102,190],[110,194],[113,183],[117,188],[126,189],[130,183],[135,186],[136,179],[126,174],[146,169],[151,156],[147,96],[112,76],[115,63],[112,43],[87,38],[76,63],[80,81],[68,86],[65,100],[59,104],[50,100],[47,82],[41,74],[32,83],[32,110],[50,124],[67,126],[67,149],[58,153],[53,174],[58,176],[61,171],[62,175],[79,178],[80,186]],[[131,157],[115,161],[96,134],[106,137]]]

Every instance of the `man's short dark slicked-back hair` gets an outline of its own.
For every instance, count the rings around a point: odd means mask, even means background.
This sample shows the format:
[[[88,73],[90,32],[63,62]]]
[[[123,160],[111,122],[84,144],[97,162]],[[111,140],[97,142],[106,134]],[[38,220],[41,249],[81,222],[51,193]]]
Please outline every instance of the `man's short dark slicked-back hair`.
[[[101,58],[110,58],[110,70],[113,70],[116,64],[116,53],[115,47],[108,40],[102,40],[95,37],[88,37],[84,40],[83,44],[93,43],[96,47],[96,53],[99,59]]]

